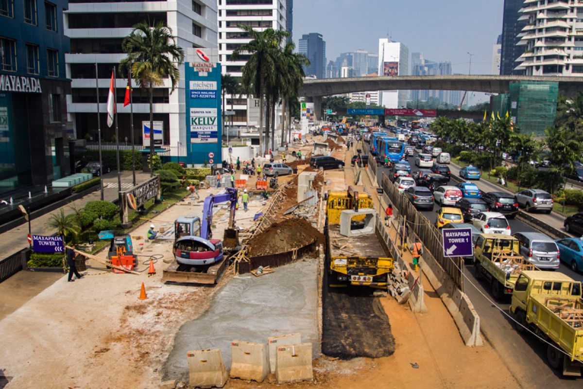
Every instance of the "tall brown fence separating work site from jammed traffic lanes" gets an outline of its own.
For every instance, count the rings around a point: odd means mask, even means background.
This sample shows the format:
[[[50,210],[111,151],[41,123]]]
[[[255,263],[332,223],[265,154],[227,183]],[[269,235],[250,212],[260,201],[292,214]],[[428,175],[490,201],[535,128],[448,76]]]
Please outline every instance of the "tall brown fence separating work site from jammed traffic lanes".
[[[382,174],[382,189],[393,206],[398,209],[399,214],[405,218],[406,225],[409,228],[409,237],[412,236],[412,232],[419,237],[423,246],[436,258],[445,272],[454,280],[459,290],[463,292],[463,259],[459,257],[444,257],[440,232],[429,219],[417,211],[415,206],[399,192],[386,174]]]

